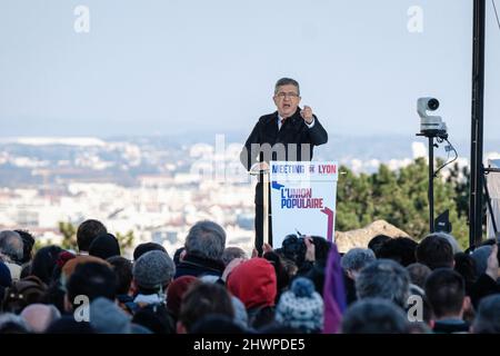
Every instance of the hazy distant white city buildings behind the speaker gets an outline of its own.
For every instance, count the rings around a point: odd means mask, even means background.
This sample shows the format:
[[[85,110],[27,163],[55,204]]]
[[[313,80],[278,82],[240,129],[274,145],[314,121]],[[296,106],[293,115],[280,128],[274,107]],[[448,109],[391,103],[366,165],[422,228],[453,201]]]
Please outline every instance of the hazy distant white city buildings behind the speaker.
[[[354,172],[374,171],[382,161],[397,169],[424,156],[420,144],[408,142],[408,157],[328,159]],[[254,181],[239,162],[240,147],[220,137],[214,146],[190,147],[158,138],[0,140],[0,229],[26,228],[43,244],[58,244],[59,221],[97,218],[111,233],[133,231],[133,245],[156,241],[173,254],[193,222],[211,219],[226,228],[228,246],[250,255]]]

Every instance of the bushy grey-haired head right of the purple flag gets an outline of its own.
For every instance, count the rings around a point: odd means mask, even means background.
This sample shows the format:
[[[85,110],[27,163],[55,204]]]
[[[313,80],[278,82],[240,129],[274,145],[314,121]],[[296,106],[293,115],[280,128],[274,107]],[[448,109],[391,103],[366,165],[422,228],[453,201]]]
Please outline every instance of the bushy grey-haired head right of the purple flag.
[[[410,274],[393,260],[379,259],[361,269],[356,279],[356,291],[359,299],[383,298],[406,308]]]

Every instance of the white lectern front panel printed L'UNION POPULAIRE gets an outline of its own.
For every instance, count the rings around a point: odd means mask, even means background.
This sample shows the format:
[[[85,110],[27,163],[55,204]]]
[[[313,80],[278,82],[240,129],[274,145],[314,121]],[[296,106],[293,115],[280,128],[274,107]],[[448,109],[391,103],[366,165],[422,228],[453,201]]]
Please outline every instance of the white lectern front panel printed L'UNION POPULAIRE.
[[[273,247],[287,235],[316,235],[333,243],[338,165],[336,161],[271,161]]]

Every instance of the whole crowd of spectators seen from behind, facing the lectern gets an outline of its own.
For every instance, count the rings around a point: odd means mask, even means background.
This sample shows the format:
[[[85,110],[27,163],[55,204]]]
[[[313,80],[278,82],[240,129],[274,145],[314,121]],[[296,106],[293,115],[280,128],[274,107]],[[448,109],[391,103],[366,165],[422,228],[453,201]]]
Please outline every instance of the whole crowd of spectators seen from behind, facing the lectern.
[[[500,333],[494,239],[462,251],[449,234],[379,235],[339,254],[289,235],[251,256],[226,239],[199,221],[173,256],[146,243],[130,260],[94,219],[77,251],[0,231],[0,334]]]

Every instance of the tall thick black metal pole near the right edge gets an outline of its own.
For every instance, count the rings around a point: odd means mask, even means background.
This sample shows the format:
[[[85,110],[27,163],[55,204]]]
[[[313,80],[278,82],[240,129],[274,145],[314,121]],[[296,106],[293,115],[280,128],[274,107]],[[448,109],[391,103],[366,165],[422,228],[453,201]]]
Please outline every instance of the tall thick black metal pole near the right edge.
[[[482,240],[482,127],[484,92],[486,1],[474,0],[472,51],[472,118],[470,149],[469,245]]]

